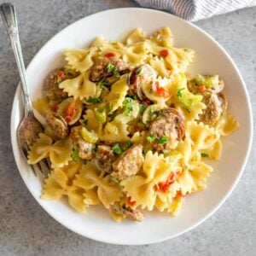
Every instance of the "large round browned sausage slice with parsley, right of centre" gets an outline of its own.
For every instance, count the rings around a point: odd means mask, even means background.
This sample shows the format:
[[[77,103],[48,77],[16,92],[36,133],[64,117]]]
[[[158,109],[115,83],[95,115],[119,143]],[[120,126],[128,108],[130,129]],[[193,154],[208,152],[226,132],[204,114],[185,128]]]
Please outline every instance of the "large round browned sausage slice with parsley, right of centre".
[[[185,134],[185,125],[182,115],[175,108],[165,108],[158,118],[149,126],[149,135],[155,137],[152,143],[156,150],[176,148],[178,141]]]

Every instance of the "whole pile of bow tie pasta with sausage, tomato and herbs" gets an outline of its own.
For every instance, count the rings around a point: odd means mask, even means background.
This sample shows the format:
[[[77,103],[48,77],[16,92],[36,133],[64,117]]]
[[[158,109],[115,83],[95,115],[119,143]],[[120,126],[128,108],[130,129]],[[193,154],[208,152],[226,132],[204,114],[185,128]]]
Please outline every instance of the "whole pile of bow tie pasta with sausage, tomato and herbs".
[[[207,160],[221,159],[222,137],[239,123],[218,75],[188,74],[194,57],[168,27],[65,49],[67,65],[33,102],[46,125],[28,163],[51,166],[42,199],[142,221],[154,209],[177,216],[188,195],[206,189]]]

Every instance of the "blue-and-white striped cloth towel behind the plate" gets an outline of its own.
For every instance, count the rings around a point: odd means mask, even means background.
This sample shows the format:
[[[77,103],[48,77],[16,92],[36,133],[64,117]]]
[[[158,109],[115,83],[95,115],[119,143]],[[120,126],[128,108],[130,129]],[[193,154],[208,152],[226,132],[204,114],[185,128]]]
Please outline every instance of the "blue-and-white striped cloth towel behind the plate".
[[[195,21],[256,5],[256,0],[136,0],[143,7],[165,9]]]

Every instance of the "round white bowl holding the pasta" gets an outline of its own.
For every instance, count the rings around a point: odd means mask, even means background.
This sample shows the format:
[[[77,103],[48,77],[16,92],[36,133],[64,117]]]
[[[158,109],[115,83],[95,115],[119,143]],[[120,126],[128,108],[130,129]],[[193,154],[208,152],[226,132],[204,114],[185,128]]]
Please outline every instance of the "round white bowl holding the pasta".
[[[27,67],[27,81],[32,99],[41,95],[44,78],[49,71],[61,66],[63,49],[82,48],[97,36],[120,39],[138,26],[148,33],[163,26],[170,26],[177,47],[195,49],[195,61],[189,71],[219,74],[224,79],[229,112],[241,124],[238,131],[224,138],[222,159],[212,163],[214,172],[208,178],[207,189],[189,196],[177,217],[173,218],[162,212],[146,212],[146,218],[142,223],[124,221],[118,224],[113,222],[103,207],[91,207],[85,214],[80,214],[74,212],[65,201],[41,200],[41,184],[22,158],[17,144],[16,131],[23,113],[20,88],[15,94],[11,116],[15,161],[26,187],[41,207],[59,223],[82,236],[126,245],[165,241],[193,229],[211,216],[230,195],[241,177],[253,137],[252,110],[246,85],[230,56],[200,28],[173,15],[152,9],[104,11],[78,20],[56,34],[39,50]]]

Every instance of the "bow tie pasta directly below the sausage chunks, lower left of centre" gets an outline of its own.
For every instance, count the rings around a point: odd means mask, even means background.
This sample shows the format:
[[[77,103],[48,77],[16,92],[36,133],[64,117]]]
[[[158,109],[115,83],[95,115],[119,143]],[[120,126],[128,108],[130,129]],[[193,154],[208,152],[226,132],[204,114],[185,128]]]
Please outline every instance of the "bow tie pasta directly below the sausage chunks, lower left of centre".
[[[110,183],[109,177],[99,177],[96,166],[91,162],[83,166],[73,184],[85,191],[96,187],[98,198],[107,209],[123,195],[119,185]]]

